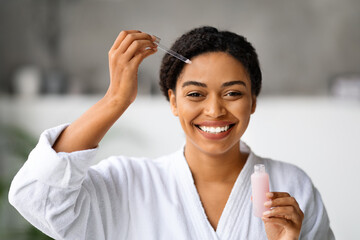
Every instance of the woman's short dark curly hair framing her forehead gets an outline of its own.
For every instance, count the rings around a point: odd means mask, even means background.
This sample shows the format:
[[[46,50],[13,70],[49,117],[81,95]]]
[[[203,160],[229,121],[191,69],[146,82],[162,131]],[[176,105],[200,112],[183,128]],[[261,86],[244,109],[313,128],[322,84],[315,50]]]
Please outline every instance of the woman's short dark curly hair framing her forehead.
[[[208,52],[226,52],[240,61],[251,81],[251,92],[258,96],[261,89],[261,70],[255,48],[245,37],[229,31],[219,31],[210,26],[190,30],[178,38],[171,49],[189,59]],[[167,100],[168,90],[175,91],[176,81],[184,62],[166,54],[160,68],[160,88]]]

